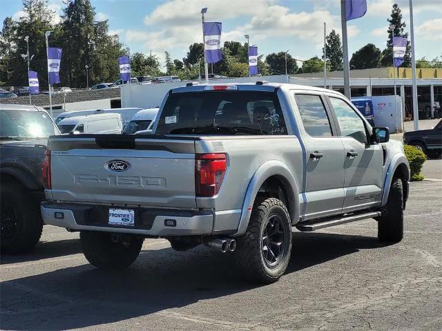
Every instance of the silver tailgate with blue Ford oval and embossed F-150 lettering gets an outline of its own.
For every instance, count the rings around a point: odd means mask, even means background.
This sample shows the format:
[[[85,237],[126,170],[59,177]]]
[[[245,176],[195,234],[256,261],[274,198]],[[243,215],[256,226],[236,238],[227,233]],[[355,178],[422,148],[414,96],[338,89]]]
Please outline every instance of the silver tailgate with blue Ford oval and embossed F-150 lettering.
[[[196,208],[195,139],[51,137],[50,199]]]

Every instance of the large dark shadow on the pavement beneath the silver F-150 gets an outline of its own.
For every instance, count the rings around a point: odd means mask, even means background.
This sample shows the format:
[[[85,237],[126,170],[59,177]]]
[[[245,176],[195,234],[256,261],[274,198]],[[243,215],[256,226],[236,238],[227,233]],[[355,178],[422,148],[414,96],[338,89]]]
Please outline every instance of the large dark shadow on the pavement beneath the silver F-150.
[[[322,263],[359,250],[382,247],[374,237],[300,232],[294,232],[293,237],[289,268],[282,281],[269,286],[287,286],[284,278],[293,277],[294,272],[320,268]],[[86,264],[3,281],[0,328],[94,329],[95,325],[149,314],[159,314],[159,319],[164,321],[171,314],[164,310],[261,286],[242,280],[228,253],[210,252],[201,246],[188,252],[162,248],[144,251],[131,268],[120,272],[97,270]],[[244,296],[253,301],[250,294]],[[212,301],[209,309],[211,312],[224,310],[224,301]],[[167,323],[180,323],[180,319]],[[115,328],[121,326],[115,325]],[[149,328],[154,330],[155,325]]]

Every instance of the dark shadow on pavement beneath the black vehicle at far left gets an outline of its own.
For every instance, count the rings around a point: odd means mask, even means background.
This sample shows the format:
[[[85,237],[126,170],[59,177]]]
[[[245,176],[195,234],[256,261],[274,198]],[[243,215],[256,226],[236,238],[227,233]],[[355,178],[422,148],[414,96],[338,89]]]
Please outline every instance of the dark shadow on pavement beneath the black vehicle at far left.
[[[64,257],[67,255],[78,254],[81,252],[81,244],[79,239],[40,241],[31,252],[26,254],[2,254],[0,264],[8,265],[28,261],[41,261],[44,259],[52,259],[54,257]]]

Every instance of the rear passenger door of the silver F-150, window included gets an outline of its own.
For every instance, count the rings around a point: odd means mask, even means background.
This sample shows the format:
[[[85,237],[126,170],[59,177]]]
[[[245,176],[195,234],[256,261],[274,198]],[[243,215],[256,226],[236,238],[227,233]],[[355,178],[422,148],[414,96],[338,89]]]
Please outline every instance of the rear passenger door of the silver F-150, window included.
[[[322,96],[296,92],[295,101],[306,152],[300,215],[307,220],[340,214],[344,201],[343,143]]]

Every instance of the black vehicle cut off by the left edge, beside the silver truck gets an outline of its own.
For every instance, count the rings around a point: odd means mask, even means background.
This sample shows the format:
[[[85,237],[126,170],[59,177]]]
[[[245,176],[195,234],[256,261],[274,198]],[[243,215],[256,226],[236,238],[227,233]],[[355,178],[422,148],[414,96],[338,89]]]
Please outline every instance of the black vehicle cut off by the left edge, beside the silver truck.
[[[0,104],[1,252],[26,252],[40,239],[41,165],[52,134],[59,130],[44,109]]]

